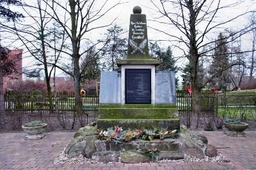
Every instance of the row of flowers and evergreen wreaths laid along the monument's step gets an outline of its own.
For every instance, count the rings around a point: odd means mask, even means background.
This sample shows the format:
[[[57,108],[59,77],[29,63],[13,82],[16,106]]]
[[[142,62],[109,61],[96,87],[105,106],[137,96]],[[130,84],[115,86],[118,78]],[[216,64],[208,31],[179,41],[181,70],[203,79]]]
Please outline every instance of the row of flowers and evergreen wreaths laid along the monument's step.
[[[115,126],[108,128],[106,130],[100,129],[98,130],[99,134],[98,139],[103,140],[105,142],[115,142],[121,143],[122,141],[132,141],[132,139],[143,139],[148,141],[153,141],[153,139],[158,138],[163,140],[164,138],[177,138],[178,131],[168,131],[167,129],[157,129],[154,128],[153,130],[150,129],[135,129],[131,131],[128,129],[124,131],[122,127]]]

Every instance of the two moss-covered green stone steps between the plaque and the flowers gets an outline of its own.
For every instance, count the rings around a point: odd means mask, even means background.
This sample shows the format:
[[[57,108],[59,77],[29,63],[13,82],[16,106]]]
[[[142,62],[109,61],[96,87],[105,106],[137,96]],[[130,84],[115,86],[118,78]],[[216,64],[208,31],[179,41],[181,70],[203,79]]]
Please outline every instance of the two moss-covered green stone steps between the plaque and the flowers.
[[[176,106],[153,104],[100,105],[97,129],[122,127],[123,129],[180,129]]]

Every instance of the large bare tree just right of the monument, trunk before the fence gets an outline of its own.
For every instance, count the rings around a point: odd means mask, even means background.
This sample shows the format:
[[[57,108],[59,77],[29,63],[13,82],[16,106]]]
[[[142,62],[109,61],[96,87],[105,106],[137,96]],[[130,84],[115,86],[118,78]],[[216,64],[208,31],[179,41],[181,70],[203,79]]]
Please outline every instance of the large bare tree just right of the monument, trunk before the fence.
[[[198,62],[201,57],[207,56],[209,52],[212,52],[214,48],[210,48],[209,50],[202,50],[207,45],[211,45],[216,43],[216,41],[220,41],[222,39],[216,39],[214,41],[209,41],[209,38],[212,35],[213,31],[220,29],[221,27],[225,27],[226,24],[236,20],[237,18],[243,16],[245,13],[241,13],[235,17],[228,18],[227,20],[218,18],[218,14],[227,10],[228,8],[232,8],[237,6],[243,1],[232,2],[230,4],[225,4],[221,6],[221,1],[200,1],[200,0],[159,0],[159,4],[156,1],[151,2],[157,8],[157,11],[160,13],[160,17],[157,18],[157,22],[161,22],[164,25],[174,26],[177,31],[180,32],[181,36],[177,36],[177,34],[170,34],[169,32],[162,31],[160,29],[156,29],[158,31],[163,32],[167,36],[172,39],[173,42],[177,43],[177,48],[184,52],[183,57],[186,57],[189,61],[190,68],[190,80],[193,89],[193,111],[199,114],[200,104],[199,104],[199,91],[206,83],[209,82],[214,76],[218,75],[222,71],[225,71],[232,67],[234,64],[230,64],[225,69],[218,71],[218,73],[212,74],[208,80],[202,85],[198,84]],[[167,19],[161,20],[161,18]],[[239,38],[239,36],[245,34],[250,31],[250,26],[244,27],[239,31],[234,32],[234,39]],[[225,37],[225,39],[229,38]],[[230,41],[227,41],[229,43]],[[212,54],[211,54],[212,55]]]

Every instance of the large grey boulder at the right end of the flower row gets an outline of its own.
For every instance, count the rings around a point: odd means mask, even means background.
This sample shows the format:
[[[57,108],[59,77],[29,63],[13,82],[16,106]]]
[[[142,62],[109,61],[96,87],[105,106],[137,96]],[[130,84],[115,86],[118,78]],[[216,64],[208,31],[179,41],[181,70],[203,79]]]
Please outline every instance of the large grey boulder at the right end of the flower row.
[[[192,155],[200,159],[205,157],[204,153],[207,138],[203,134],[199,134],[198,132],[180,133],[178,141],[180,143],[180,150],[182,150],[187,155]],[[198,141],[202,141],[202,143],[198,143]]]

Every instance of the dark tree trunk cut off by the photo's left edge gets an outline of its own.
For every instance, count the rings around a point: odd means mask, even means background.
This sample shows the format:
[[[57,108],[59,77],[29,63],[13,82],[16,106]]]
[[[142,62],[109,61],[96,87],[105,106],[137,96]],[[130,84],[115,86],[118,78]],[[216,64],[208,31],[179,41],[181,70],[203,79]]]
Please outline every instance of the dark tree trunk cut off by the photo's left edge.
[[[1,63],[0,63],[0,66],[1,66]],[[3,71],[2,71],[2,69],[0,69],[0,122],[4,123],[5,119],[6,119],[6,113],[5,113],[5,110],[4,110]]]

